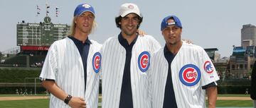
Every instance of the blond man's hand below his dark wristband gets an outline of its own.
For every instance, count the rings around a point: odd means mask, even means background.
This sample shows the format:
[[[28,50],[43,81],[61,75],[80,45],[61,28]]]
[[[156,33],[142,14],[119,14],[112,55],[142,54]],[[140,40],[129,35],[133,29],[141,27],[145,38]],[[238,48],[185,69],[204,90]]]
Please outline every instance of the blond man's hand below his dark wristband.
[[[72,108],[86,108],[85,100],[82,97],[72,97],[68,105]]]

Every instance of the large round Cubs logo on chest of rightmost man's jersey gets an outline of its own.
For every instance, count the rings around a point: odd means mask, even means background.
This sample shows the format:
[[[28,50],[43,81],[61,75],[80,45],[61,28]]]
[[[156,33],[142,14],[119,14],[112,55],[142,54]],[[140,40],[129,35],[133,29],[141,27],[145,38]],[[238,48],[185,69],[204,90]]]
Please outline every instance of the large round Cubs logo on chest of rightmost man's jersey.
[[[197,66],[187,64],[181,68],[178,76],[183,85],[193,86],[196,85],[201,79],[201,71]]]

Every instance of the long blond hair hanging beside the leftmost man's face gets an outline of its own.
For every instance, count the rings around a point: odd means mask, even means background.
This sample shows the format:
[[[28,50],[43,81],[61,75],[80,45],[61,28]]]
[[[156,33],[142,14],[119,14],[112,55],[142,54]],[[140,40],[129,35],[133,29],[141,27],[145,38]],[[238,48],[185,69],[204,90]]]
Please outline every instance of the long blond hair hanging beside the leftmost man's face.
[[[78,16],[74,16],[73,20],[72,20],[72,25],[70,26],[70,36],[74,36],[75,35],[75,27],[76,27],[76,24],[75,24],[75,20],[78,18]],[[89,34],[91,32],[94,32],[97,28],[97,23],[95,20],[93,20],[93,23],[92,23],[92,29],[90,30]]]

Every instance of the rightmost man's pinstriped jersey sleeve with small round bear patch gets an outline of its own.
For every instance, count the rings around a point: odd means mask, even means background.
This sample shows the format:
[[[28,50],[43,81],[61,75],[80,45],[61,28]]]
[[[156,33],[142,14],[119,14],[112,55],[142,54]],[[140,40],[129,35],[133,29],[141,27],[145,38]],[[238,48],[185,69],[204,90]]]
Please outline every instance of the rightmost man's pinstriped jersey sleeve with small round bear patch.
[[[208,54],[203,48],[201,49],[201,66],[200,67],[201,67],[200,70],[202,74],[201,76],[202,86],[205,86],[217,80],[220,80],[220,78],[218,77],[217,71],[213,66],[213,62],[210,60]]]

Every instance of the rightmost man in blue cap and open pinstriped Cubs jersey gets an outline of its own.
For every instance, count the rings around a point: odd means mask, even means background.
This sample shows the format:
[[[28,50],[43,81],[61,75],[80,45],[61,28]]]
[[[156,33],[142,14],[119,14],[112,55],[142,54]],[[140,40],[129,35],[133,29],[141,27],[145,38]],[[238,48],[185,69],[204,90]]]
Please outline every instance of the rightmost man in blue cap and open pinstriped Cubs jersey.
[[[219,80],[202,47],[181,40],[181,20],[166,16],[161,33],[166,45],[154,53],[149,69],[151,104],[154,108],[214,108]]]

